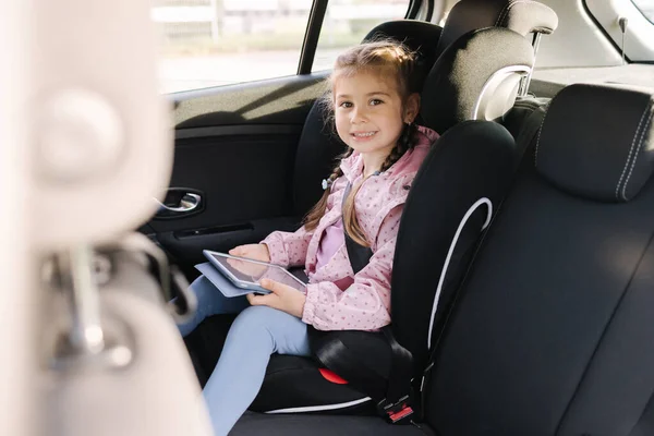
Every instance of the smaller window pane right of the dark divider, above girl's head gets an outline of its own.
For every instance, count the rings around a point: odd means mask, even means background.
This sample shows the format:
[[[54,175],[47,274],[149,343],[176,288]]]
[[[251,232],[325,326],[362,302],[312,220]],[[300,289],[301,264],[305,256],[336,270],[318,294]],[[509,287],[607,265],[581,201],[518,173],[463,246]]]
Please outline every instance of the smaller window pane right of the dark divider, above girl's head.
[[[408,9],[409,0],[330,0],[312,71],[331,69],[344,48],[361,43],[377,24],[403,19]]]

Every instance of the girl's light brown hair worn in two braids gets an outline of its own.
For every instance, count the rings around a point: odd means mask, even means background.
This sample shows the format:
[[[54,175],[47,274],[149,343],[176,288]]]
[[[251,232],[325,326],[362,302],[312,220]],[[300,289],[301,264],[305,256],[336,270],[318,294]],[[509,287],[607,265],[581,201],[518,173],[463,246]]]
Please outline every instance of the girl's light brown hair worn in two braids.
[[[376,74],[384,76],[395,77],[398,85],[398,93],[402,99],[402,104],[405,104],[409,96],[416,92],[414,82],[414,62],[415,56],[403,45],[393,40],[375,40],[372,43],[364,43],[360,46],[351,48],[336,59],[334,65],[334,72],[329,77],[329,90],[323,98],[323,105],[328,109],[330,119],[328,122],[332,123],[334,119],[334,83],[337,76],[352,76],[361,71],[373,71]],[[386,73],[386,74],[385,74]],[[380,171],[384,172],[389,169],[395,162],[398,161],[404,153],[413,146],[413,125],[407,125],[400,135],[400,140],[396,144],[395,148],[388,154],[386,160],[382,165]],[[352,154],[353,149],[348,150],[338,157],[338,165],[334,168],[331,175],[327,179],[329,186],[331,183],[343,175],[340,169],[340,161]],[[364,246],[371,246],[371,243],[366,241],[365,233],[356,219],[356,213],[354,209],[354,197],[364,182],[362,180],[355,186],[352,187],[350,195],[346,199],[343,205],[343,227],[350,238],[356,243]],[[325,215],[327,208],[327,198],[330,194],[330,189],[325,190],[323,197],[318,203],[308,211],[304,218],[304,226],[307,230],[313,230],[318,226],[320,218]]]

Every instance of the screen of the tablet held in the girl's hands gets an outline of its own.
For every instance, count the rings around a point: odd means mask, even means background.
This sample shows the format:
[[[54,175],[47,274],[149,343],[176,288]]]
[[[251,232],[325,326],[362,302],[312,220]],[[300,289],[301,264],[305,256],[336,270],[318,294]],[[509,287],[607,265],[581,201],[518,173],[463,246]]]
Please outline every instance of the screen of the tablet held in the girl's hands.
[[[278,265],[264,262],[233,257],[221,253],[209,253],[216,263],[220,264],[237,280],[258,284],[262,279],[270,279],[291,288],[304,291],[305,283]]]

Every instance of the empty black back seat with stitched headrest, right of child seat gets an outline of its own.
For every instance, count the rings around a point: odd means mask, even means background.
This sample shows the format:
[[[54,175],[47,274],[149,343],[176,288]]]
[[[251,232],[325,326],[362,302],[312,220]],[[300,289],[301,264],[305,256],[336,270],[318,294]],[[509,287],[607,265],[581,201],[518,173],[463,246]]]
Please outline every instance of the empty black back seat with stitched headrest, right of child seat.
[[[555,97],[437,338],[423,424],[249,414],[231,434],[651,435],[653,121],[649,92]]]

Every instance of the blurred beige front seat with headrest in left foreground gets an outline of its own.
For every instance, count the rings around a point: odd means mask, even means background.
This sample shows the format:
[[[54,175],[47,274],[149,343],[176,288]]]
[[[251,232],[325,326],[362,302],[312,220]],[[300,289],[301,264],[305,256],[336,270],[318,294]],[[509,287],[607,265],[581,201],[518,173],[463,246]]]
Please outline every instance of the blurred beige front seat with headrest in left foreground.
[[[166,258],[131,233],[172,166],[149,5],[3,5],[2,435],[210,434]]]

